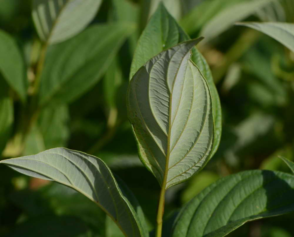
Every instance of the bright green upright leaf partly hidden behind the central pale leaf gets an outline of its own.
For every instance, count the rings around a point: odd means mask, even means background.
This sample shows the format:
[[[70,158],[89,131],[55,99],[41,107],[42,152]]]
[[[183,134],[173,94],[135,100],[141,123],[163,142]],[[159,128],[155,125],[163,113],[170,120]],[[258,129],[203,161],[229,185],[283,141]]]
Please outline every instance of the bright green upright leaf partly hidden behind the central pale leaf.
[[[173,17],[168,13],[163,4],[159,4],[158,9],[151,17],[148,25],[141,34],[138,41],[135,55],[133,57],[130,79],[136,71],[150,58],[168,49],[177,43],[189,40],[190,37],[183,31]],[[221,137],[221,108],[220,99],[216,86],[213,82],[210,68],[196,47],[192,49],[192,60],[206,78],[211,91],[213,102],[213,120],[215,124],[215,142],[213,154],[216,152]],[[212,154],[212,155],[213,155]]]

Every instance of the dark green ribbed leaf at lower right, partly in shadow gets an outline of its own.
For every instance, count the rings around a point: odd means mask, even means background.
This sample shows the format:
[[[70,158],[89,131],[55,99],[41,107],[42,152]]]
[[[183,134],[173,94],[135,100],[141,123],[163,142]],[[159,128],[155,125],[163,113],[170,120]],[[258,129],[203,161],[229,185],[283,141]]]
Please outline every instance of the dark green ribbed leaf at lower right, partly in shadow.
[[[294,211],[294,176],[250,170],[211,184],[183,207],[173,237],[220,237],[248,221]]]

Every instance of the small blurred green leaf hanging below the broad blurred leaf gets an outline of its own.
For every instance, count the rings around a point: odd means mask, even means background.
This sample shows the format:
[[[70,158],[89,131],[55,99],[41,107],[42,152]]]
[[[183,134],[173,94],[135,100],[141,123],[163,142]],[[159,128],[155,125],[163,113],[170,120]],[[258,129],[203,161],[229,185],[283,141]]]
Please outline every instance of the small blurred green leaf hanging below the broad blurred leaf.
[[[47,107],[42,110],[38,124],[46,149],[66,146],[69,138],[68,122],[69,111],[66,105]]]

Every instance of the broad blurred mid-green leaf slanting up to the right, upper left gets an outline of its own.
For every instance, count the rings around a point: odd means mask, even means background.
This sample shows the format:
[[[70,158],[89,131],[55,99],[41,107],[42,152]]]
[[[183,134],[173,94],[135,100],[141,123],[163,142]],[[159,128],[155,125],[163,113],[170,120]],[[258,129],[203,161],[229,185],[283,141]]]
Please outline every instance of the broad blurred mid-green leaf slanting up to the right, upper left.
[[[90,89],[132,31],[131,24],[99,24],[50,46],[41,75],[40,105],[71,102]]]

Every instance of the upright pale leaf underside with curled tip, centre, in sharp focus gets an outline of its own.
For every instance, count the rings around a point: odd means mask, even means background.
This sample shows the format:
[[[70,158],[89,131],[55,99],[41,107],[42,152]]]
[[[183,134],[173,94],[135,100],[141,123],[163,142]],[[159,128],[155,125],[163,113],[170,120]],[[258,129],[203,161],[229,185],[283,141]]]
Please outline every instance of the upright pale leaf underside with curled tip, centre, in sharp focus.
[[[212,153],[211,94],[200,70],[189,60],[201,39],[151,58],[128,88],[128,117],[141,161],[166,189],[199,172]]]

